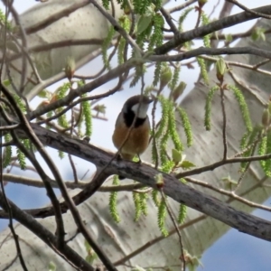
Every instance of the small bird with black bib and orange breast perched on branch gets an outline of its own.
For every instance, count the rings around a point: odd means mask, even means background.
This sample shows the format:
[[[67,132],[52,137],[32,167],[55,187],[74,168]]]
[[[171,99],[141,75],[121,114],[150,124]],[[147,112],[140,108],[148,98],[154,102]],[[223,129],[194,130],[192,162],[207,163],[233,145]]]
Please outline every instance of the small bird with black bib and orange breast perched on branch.
[[[118,114],[112,135],[113,144],[119,151],[118,158],[131,161],[137,155],[141,163],[140,154],[143,154],[149,145],[151,126],[147,110],[153,101],[144,95],[135,95],[126,100]],[[118,178],[125,179],[123,176]]]

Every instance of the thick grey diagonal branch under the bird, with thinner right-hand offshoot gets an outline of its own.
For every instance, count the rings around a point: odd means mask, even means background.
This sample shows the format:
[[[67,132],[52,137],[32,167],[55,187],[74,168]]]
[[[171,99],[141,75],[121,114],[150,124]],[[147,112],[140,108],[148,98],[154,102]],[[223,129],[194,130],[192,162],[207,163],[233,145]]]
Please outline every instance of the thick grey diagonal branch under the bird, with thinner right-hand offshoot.
[[[98,147],[86,144],[83,141],[56,134],[35,124],[32,124],[32,127],[36,135],[39,136],[42,143],[49,145],[52,148],[56,148],[69,154],[78,156],[86,161],[96,164],[99,168],[106,166],[113,157],[113,154],[102,151],[98,149]],[[18,130],[17,133],[18,135],[20,134],[24,136],[22,130]],[[218,164],[206,166],[204,169],[214,170],[223,164],[239,163],[241,161],[244,162],[247,160],[256,161],[261,158],[270,158],[270,156],[271,155],[269,154],[247,158],[233,158],[222,161]],[[110,174],[121,174],[127,178],[142,182],[145,185],[151,186],[153,188],[156,188],[154,176],[159,173],[159,171],[150,166],[126,161],[112,161],[111,164],[107,165],[105,172]],[[202,172],[204,171],[197,172],[197,170],[193,170],[190,171],[190,175],[192,173]],[[235,210],[230,207],[229,204],[219,201],[202,192],[196,191],[171,175],[165,173],[162,174],[164,177],[164,193],[171,197],[173,200],[182,202],[195,210],[199,210],[212,218],[228,224],[232,228],[246,232],[257,238],[271,240],[270,222],[259,219],[243,211]],[[189,172],[180,173],[178,178],[182,178],[185,175],[189,175]],[[84,194],[84,191],[80,193]]]

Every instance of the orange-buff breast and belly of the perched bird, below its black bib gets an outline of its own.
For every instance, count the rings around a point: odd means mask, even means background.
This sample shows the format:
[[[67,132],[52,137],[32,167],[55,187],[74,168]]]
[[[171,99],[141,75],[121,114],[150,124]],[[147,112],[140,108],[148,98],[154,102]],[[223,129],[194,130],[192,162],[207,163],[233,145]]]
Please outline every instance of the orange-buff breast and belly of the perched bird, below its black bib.
[[[125,123],[117,123],[113,134],[113,143],[119,149],[126,140],[129,128]],[[148,117],[142,126],[132,128],[125,145],[121,148],[120,154],[124,159],[131,160],[135,154],[143,154],[149,145],[150,124]]]

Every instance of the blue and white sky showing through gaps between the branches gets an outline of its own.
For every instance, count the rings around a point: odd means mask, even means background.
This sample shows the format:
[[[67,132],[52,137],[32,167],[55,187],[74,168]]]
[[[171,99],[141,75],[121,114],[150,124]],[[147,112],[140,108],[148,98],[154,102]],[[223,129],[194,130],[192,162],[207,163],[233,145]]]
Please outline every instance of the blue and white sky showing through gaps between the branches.
[[[49,0],[51,1],[51,0]],[[184,1],[177,1],[180,4]],[[219,6],[221,6],[224,1],[216,1],[210,0],[207,5],[204,7],[206,12],[211,11],[213,6],[219,2]],[[261,1],[246,1],[239,0],[239,3],[243,5],[247,5],[249,8],[257,7],[258,5],[269,5],[269,0],[261,0]],[[175,5],[175,1],[173,1],[173,5]],[[260,4],[259,4],[260,3]],[[23,13],[23,11],[27,10],[29,7],[36,5],[34,0],[14,0],[14,6],[19,14]],[[171,4],[170,4],[171,5]],[[167,6],[170,6],[167,5]],[[0,8],[1,8],[0,4]],[[217,9],[218,11],[220,8]],[[240,12],[238,8],[234,8],[233,14]],[[213,16],[217,16],[217,13],[214,13]],[[190,21],[191,20],[191,21]],[[189,25],[193,25],[194,19],[189,17],[188,22],[185,24],[186,30],[189,29]],[[238,33],[244,31],[244,28],[249,29],[255,22],[251,21],[246,24],[237,25],[234,28],[229,28],[226,30],[226,33]],[[99,65],[102,67],[101,59],[95,61],[95,65]],[[89,69],[88,67],[82,68],[78,71],[79,74],[88,75]],[[192,89],[194,84],[195,70],[187,70],[186,71],[186,83],[188,84],[188,89]],[[106,87],[102,87],[106,88]],[[111,133],[99,133],[98,129],[95,127],[99,126],[103,130],[113,131],[115,125],[115,119],[117,118],[118,110],[122,107],[123,102],[126,98],[135,95],[136,89],[131,89],[129,92],[117,93],[116,95],[107,98],[107,122],[101,122],[98,120],[94,120],[94,132],[92,135],[92,142],[97,145],[103,145],[110,150],[115,150],[112,142],[111,142]],[[111,106],[110,104],[114,104],[115,106]],[[81,163],[81,162],[80,162]],[[65,161],[60,161],[59,167],[65,168]],[[70,175],[68,173],[64,173],[65,170],[62,170],[64,174],[64,178],[69,179]],[[18,173],[18,171],[14,171],[14,173]],[[32,177],[35,176],[33,173],[27,172],[27,174]],[[83,174],[83,171],[81,172]],[[19,184],[8,184],[5,187],[7,195],[21,208],[30,208],[33,207],[33,202],[35,202],[36,206],[43,206],[48,202],[45,192],[38,188],[27,187],[25,188],[23,185]],[[25,195],[27,194],[27,197]],[[28,201],[31,199],[32,201]],[[268,199],[265,204],[270,205],[270,199]],[[266,220],[271,220],[271,214],[263,211],[263,210],[255,210],[254,214],[265,218]],[[4,229],[7,225],[6,221],[0,221],[0,230]],[[269,271],[271,266],[271,243],[266,242],[264,240],[250,237],[244,233],[238,232],[236,229],[230,229],[227,234],[225,234],[222,238],[220,238],[213,246],[211,246],[201,257],[202,267],[199,267],[198,270],[208,270],[208,271],[235,271],[235,270],[246,270],[246,271]]]

